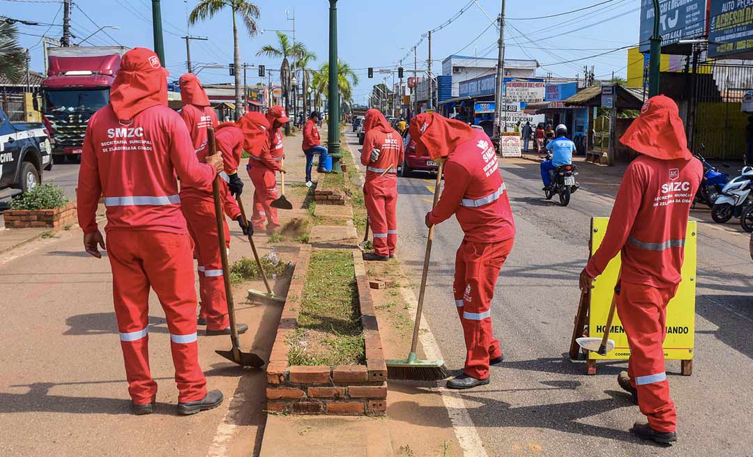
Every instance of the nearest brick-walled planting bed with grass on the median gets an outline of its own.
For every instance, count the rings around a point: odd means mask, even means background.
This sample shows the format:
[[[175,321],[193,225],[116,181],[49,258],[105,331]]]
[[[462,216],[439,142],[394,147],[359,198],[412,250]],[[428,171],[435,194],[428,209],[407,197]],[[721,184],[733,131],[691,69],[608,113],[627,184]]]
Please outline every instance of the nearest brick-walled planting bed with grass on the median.
[[[383,416],[387,367],[361,252],[306,248],[267,367],[267,410]]]

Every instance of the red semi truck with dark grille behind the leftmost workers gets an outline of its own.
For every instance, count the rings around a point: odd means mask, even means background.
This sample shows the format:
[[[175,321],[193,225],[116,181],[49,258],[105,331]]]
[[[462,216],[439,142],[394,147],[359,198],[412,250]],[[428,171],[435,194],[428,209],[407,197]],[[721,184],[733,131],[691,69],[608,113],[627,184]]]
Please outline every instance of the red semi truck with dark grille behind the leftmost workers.
[[[53,142],[53,161],[81,159],[87,123],[110,102],[110,87],[120,69],[121,46],[50,47],[42,81],[41,112]]]

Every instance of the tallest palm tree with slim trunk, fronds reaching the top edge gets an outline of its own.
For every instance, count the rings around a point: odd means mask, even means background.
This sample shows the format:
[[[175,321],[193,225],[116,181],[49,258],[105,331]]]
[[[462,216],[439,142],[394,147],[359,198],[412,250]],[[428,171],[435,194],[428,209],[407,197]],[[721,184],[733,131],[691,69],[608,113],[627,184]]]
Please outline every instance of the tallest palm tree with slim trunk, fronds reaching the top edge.
[[[238,44],[238,26],[236,24],[236,15],[239,15],[248,30],[249,36],[254,36],[258,32],[256,20],[259,18],[261,11],[259,7],[246,0],[200,0],[191,11],[188,22],[195,24],[199,20],[206,20],[215,17],[220,11],[229,8],[233,15],[233,62],[235,63],[235,90],[236,90],[236,118],[245,113],[243,106],[243,93],[240,85],[240,46]]]

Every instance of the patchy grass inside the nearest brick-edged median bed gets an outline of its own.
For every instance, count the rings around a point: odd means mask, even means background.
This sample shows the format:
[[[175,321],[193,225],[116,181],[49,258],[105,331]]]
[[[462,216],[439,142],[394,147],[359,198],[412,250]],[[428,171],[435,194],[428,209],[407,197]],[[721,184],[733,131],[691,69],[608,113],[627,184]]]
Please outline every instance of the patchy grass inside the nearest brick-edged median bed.
[[[314,251],[298,328],[288,338],[291,365],[354,365],[365,360],[352,252]]]

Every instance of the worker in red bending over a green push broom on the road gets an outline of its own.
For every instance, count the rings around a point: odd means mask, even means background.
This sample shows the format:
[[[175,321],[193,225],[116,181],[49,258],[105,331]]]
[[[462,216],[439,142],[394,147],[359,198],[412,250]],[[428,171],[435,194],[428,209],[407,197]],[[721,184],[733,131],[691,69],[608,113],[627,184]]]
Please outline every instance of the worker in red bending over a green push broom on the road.
[[[416,155],[444,163],[444,190],[426,226],[455,215],[465,233],[455,260],[453,291],[465,334],[465,368],[449,388],[489,384],[489,364],[502,359],[492,334],[491,304],[502,264],[513,248],[515,222],[494,145],[483,130],[436,113],[410,121]]]

